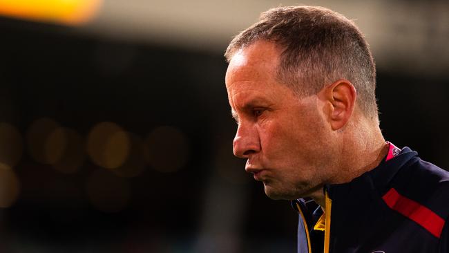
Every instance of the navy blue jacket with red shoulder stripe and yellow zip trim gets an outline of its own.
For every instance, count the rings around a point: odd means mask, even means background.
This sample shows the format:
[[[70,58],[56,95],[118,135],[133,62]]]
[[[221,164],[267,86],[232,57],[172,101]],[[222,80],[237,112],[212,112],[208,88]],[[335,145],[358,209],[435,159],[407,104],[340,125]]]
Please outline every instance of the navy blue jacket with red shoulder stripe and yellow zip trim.
[[[331,207],[325,232],[314,229],[321,207],[292,201],[300,212],[298,253],[323,252],[325,233],[325,253],[449,253],[449,172],[408,147],[390,148],[378,167],[351,182],[326,185],[325,193]]]

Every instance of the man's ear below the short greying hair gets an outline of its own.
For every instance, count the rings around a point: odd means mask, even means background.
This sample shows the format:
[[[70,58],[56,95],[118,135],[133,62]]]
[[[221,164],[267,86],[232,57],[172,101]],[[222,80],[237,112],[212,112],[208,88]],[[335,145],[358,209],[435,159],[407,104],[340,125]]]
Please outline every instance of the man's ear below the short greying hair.
[[[356,104],[356,89],[351,82],[340,79],[325,86],[319,96],[328,106],[325,110],[332,130],[338,130],[350,120]]]

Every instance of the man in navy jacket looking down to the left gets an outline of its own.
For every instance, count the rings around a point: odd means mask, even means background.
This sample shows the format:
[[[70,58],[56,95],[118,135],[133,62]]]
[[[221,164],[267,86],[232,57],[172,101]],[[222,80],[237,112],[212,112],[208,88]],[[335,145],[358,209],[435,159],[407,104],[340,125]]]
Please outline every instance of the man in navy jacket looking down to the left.
[[[269,198],[292,200],[298,252],[449,252],[449,174],[385,142],[352,21],[274,8],[225,56],[233,152]]]

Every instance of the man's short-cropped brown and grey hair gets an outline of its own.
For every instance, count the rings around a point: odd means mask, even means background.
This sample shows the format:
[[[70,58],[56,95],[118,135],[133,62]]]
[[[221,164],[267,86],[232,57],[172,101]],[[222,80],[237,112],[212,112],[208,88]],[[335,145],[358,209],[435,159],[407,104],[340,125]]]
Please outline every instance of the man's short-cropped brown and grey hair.
[[[378,119],[374,59],[353,21],[318,6],[272,8],[233,38],[225,53],[227,62],[260,40],[280,46],[277,77],[296,94],[316,94],[327,84],[347,79],[356,88],[361,111]]]

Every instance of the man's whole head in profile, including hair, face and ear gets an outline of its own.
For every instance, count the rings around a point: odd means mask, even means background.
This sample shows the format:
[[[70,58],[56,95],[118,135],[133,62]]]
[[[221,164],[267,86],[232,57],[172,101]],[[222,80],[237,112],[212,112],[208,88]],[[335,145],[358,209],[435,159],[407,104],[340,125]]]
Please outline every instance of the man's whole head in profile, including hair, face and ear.
[[[341,173],[354,115],[377,121],[374,63],[359,30],[325,8],[275,8],[226,57],[234,154],[270,198],[322,192]]]

